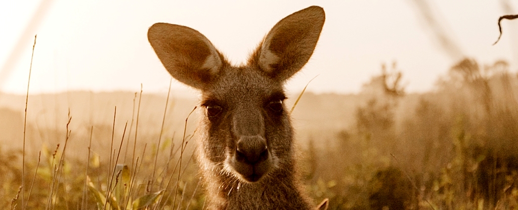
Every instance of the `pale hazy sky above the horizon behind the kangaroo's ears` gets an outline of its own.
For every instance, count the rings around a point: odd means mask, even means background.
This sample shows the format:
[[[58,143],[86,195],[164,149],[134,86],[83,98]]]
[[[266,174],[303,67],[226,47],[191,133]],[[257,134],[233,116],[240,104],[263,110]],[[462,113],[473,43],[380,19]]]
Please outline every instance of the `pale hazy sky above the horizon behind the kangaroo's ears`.
[[[41,1],[0,2],[0,67],[4,66]],[[326,12],[324,28],[309,63],[289,83],[299,91],[316,75],[314,92],[358,92],[380,73],[382,63],[398,63],[410,92],[433,88],[454,63],[436,44],[411,0],[377,1],[65,1],[55,0],[40,24],[31,93],[67,90],[164,92],[170,76],[147,40],[155,22],[192,27],[235,64],[279,20],[311,5]],[[516,71],[518,20],[503,21],[496,46],[500,1],[435,1],[433,11],[455,44],[482,64],[498,59]],[[518,8],[517,4],[511,5]],[[26,38],[0,91],[25,93],[34,35]],[[0,69],[2,71],[2,69]],[[188,90],[179,82],[173,88]]]

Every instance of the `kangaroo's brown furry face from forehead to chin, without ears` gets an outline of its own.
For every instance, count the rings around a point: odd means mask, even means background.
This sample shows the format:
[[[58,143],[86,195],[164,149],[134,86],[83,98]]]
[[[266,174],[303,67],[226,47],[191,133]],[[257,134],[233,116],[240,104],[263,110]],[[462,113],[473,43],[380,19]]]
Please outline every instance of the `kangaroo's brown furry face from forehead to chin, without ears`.
[[[253,67],[228,68],[202,95],[202,124],[210,134],[203,145],[212,162],[257,181],[286,159],[292,130],[282,83]]]

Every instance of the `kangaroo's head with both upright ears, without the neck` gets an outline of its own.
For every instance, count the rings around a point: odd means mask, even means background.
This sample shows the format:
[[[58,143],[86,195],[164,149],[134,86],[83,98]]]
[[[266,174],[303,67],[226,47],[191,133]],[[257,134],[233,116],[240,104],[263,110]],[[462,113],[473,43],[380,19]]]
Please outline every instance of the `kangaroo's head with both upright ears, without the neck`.
[[[200,161],[246,183],[290,164],[293,130],[283,85],[308,62],[324,20],[317,6],[282,19],[242,66],[229,64],[190,27],[149,28],[149,42],[171,76],[202,92]]]

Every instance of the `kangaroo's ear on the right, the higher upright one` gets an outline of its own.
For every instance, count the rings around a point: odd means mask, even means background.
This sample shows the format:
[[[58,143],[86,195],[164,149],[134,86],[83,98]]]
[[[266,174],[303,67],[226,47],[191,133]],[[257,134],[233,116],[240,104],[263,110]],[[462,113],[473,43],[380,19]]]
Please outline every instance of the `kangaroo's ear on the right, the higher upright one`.
[[[251,57],[278,81],[289,79],[309,60],[325,21],[324,9],[311,6],[279,21]]]

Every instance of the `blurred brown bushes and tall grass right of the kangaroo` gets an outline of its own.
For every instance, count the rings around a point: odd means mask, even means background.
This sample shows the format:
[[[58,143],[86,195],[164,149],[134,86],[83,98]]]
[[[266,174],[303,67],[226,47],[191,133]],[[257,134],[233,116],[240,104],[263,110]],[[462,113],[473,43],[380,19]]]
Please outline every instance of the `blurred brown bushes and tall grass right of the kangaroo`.
[[[404,95],[371,92],[356,128],[308,152],[322,154],[313,195],[331,209],[518,208],[518,77],[506,66],[461,61],[413,111],[398,110]]]

